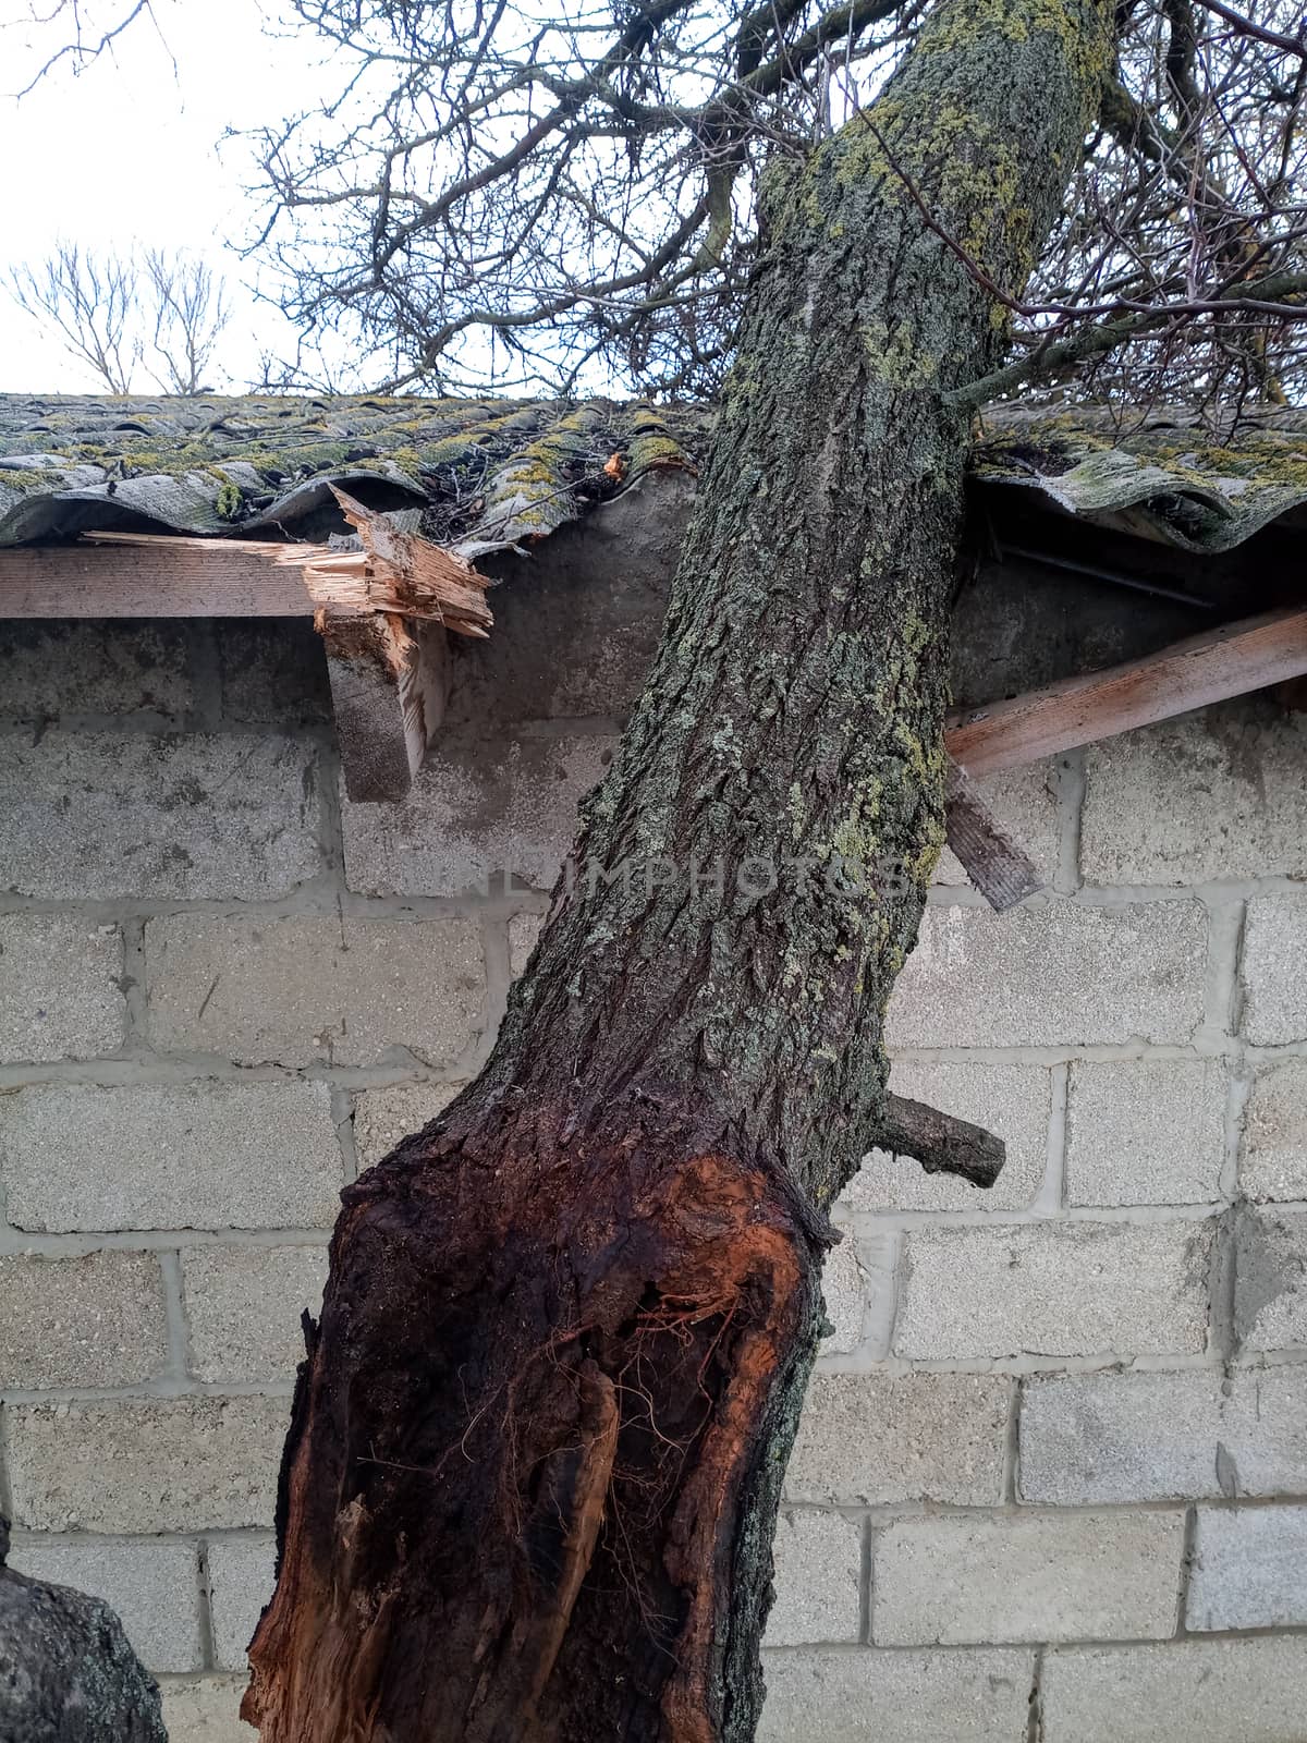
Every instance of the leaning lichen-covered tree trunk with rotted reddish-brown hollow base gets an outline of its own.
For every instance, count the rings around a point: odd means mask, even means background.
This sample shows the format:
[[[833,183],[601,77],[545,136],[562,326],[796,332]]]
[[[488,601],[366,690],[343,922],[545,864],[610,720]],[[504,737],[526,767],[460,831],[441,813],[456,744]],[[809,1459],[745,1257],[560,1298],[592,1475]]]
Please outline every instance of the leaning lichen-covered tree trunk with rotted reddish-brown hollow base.
[[[477,1082],[345,1194],[251,1654],[272,1743],[755,1733],[826,1211],[903,1126],[882,1016],[943,838],[945,396],[1004,343],[922,206],[1019,288],[1110,17],[948,0],[870,119],[765,190],[573,887]]]

